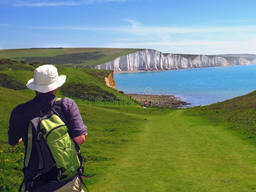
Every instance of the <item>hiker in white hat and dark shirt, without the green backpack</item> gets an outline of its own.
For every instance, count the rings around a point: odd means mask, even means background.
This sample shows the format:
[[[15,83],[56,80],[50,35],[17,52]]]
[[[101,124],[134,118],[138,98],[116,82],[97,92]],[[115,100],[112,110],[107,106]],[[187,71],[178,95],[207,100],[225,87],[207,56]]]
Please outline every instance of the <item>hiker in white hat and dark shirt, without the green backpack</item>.
[[[26,150],[28,149],[28,124],[31,120],[42,115],[44,111],[51,111],[53,105],[56,103],[56,92],[60,86],[66,81],[66,76],[58,76],[58,70],[54,65],[42,65],[35,69],[34,78],[28,81],[28,88],[35,90],[36,96],[34,99],[29,100],[24,104],[18,105],[13,109],[10,117],[10,127],[8,131],[8,141],[11,146],[15,146],[20,142],[24,142]],[[76,145],[82,145],[86,140],[87,127],[83,124],[83,120],[77,108],[76,102],[67,97],[61,99],[60,103],[61,114],[64,114],[65,121],[67,121],[68,134],[70,136],[70,142],[72,140]],[[44,112],[45,113],[45,112]],[[63,117],[64,118],[64,117]],[[64,119],[60,117],[61,120]],[[65,123],[66,124],[66,123]],[[67,129],[66,127],[66,129]],[[51,130],[52,131],[52,130]],[[31,131],[32,132],[32,131]],[[40,134],[38,134],[40,135]],[[67,135],[67,134],[66,134]],[[34,140],[33,140],[34,141]],[[35,138],[36,141],[36,138]],[[36,143],[36,142],[35,142]],[[36,146],[37,147],[37,146]],[[38,172],[38,164],[40,164],[40,154],[36,147],[32,147],[31,156],[29,160],[29,166],[24,173],[23,188],[30,178],[35,179],[35,173]],[[54,146],[56,147],[56,146]],[[78,150],[78,149],[77,149]],[[74,150],[75,155],[78,156],[78,152]],[[45,154],[42,156],[45,157]],[[68,159],[69,160],[69,159]],[[71,159],[70,159],[71,161]],[[25,161],[24,161],[25,164]],[[82,163],[81,163],[82,164]],[[81,176],[81,166],[79,170],[75,170],[77,175],[74,177],[58,182],[44,182],[42,186],[38,186],[36,189],[28,191],[83,191]],[[65,172],[64,172],[65,173]],[[43,175],[43,174],[42,174]],[[60,175],[61,176],[61,172]],[[45,178],[44,178],[45,179]],[[60,178],[59,178],[60,179]],[[33,184],[33,183],[32,183]],[[24,189],[23,189],[24,190]]]

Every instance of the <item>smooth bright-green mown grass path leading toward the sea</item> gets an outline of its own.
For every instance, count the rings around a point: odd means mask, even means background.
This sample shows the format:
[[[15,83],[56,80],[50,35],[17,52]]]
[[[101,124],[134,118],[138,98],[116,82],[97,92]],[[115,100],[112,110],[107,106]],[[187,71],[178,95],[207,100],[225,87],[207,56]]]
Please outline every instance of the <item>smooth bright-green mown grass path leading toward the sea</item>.
[[[122,110],[144,119],[141,131],[132,135],[132,141],[113,159],[109,172],[92,184],[91,191],[255,189],[255,144],[225,126],[184,115],[184,110],[147,110],[140,114]]]

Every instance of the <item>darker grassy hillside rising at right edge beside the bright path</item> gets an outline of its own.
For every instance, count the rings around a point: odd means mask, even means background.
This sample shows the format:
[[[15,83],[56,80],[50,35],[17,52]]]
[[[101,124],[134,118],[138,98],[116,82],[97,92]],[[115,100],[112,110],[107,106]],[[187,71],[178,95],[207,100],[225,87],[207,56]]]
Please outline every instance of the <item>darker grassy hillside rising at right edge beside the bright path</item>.
[[[227,125],[245,139],[256,141],[256,91],[224,102],[188,110],[189,115],[203,116],[214,124]]]

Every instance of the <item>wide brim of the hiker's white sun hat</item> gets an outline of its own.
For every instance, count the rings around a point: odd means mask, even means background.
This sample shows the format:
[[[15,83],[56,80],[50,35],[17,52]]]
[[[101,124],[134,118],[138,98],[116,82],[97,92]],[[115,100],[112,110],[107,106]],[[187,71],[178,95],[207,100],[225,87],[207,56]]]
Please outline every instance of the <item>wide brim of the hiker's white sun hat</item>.
[[[47,85],[35,84],[34,79],[30,79],[27,83],[27,87],[40,93],[47,93],[56,90],[56,88],[62,86],[65,83],[66,78],[67,76],[59,76],[57,81]]]

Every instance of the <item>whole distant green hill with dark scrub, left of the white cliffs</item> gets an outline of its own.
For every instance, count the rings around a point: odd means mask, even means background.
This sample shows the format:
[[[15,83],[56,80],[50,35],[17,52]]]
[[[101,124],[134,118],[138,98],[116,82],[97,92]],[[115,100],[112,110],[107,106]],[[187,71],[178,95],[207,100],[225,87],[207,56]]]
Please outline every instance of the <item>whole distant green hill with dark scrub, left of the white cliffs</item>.
[[[49,49],[5,49],[0,58],[22,60],[27,63],[52,63],[62,66],[91,67],[115,60],[143,49],[119,48],[49,48]]]

